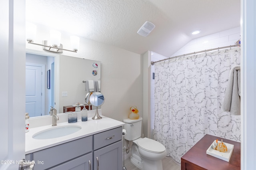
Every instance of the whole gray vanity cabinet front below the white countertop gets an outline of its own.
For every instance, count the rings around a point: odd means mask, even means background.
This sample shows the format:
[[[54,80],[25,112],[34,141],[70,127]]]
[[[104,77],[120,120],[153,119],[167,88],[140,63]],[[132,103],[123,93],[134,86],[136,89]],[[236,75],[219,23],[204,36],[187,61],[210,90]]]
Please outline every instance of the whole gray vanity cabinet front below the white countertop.
[[[122,127],[26,155],[34,170],[121,170]]]

